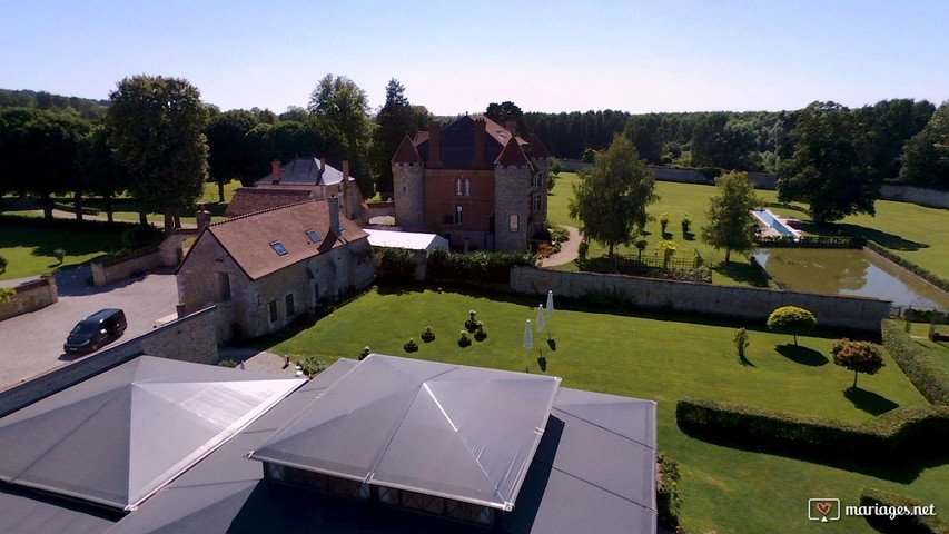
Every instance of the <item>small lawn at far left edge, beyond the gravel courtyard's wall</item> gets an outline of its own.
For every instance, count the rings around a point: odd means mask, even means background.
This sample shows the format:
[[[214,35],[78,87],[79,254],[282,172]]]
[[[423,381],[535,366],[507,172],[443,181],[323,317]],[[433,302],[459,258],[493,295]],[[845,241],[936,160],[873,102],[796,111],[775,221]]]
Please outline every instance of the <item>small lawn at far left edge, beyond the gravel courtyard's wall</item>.
[[[52,270],[86,263],[106,254],[106,248],[121,248],[119,234],[109,231],[70,231],[48,228],[0,225],[0,256],[8,260],[7,271],[0,280],[41,275]],[[52,251],[66,250],[59,265]]]

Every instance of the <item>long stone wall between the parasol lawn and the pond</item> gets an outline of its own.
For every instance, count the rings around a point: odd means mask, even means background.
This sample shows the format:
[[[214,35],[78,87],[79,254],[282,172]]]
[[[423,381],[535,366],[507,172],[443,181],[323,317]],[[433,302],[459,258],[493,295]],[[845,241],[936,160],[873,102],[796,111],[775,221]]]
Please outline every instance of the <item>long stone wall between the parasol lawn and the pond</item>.
[[[591,294],[629,298],[637,308],[665,309],[760,323],[781,306],[813,312],[818,325],[859,330],[880,329],[892,303],[876,298],[784,291],[758,287],[713,286],[622,275],[565,273],[530,267],[511,269],[511,288],[518,293],[583,298]]]

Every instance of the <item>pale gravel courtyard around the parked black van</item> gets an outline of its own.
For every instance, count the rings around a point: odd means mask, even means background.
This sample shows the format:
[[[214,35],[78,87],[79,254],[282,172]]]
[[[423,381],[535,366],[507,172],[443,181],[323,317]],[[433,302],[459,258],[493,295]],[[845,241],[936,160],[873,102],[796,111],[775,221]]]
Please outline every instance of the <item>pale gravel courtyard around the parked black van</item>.
[[[150,330],[156,319],[175,313],[178,290],[171,273],[164,268],[93,287],[87,283],[92,278],[88,266],[58,271],[58,303],[0,322],[0,389],[82,357],[63,355],[62,344],[76,323],[99,309],[125,310],[128,329],[121,339]]]

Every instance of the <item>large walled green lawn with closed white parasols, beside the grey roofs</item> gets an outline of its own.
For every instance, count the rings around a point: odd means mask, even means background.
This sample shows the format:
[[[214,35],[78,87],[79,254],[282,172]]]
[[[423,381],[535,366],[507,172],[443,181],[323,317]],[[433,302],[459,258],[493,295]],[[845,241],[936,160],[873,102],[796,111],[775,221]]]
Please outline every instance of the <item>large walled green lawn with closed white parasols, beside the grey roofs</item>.
[[[560,185],[557,186],[560,187]],[[357,357],[363,346],[373,352],[414,358],[563,377],[566,387],[591,389],[659,403],[660,448],[682,465],[683,516],[690,532],[811,532],[810,497],[839,497],[857,504],[864,486],[911,495],[937,510],[949,510],[949,466],[908,476],[902,483],[759,453],[711,445],[685,436],[675,424],[675,402],[685,396],[718,398],[837,419],[868,421],[881,409],[922,405],[923,398],[899,368],[888,366],[861,376],[867,395],[854,405],[843,395],[852,374],[828,362],[833,336],[799,337],[803,349],[789,352],[790,336],[751,329],[748,358],[739,363],[732,335],[739,325],[686,320],[661,315],[597,314],[558,307],[551,322],[556,350],[546,336],[534,336],[530,355],[523,348],[524,324],[536,319],[536,305],[482,295],[374,290],[337,309],[296,336],[265,345],[284,355],[318,356],[333,362]],[[469,309],[485,323],[486,340],[457,346]],[[421,334],[431,325],[431,344]],[[403,344],[414,337],[417,353]],[[540,348],[538,348],[540,347]],[[780,350],[780,352],[779,352]],[[783,354],[782,354],[783,353]],[[844,517],[834,532],[867,532],[862,518]]]

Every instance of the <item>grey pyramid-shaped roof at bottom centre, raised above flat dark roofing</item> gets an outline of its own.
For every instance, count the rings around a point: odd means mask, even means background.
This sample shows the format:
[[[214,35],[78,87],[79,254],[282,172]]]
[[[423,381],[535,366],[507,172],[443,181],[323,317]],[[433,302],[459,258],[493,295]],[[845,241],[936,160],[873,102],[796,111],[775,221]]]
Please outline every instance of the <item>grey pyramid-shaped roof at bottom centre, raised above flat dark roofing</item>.
[[[250,457],[510,511],[560,382],[372,354]]]

